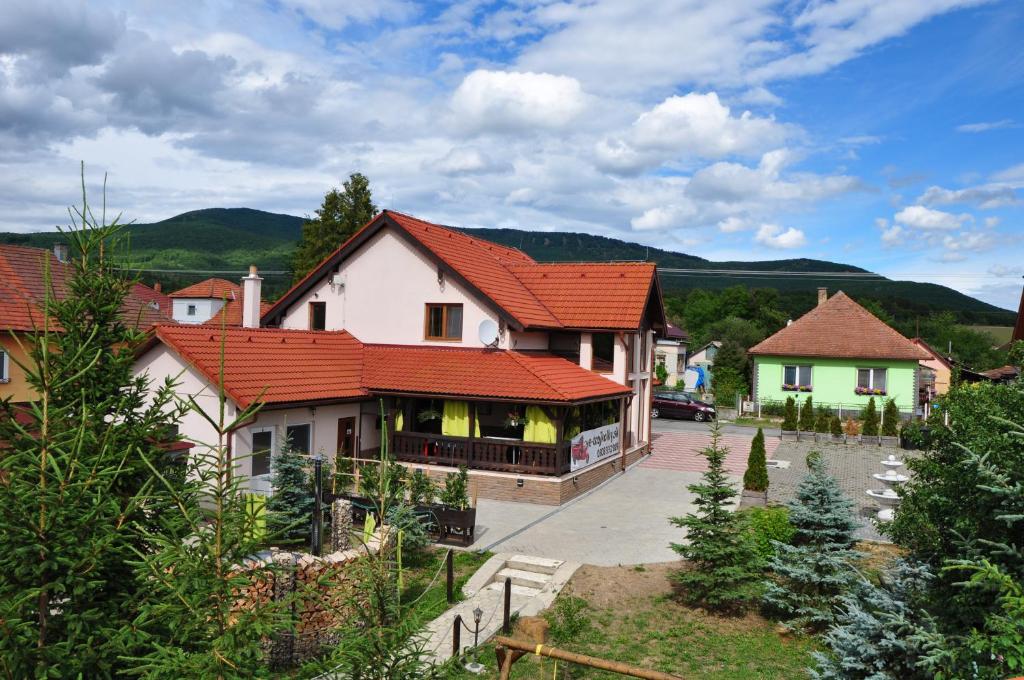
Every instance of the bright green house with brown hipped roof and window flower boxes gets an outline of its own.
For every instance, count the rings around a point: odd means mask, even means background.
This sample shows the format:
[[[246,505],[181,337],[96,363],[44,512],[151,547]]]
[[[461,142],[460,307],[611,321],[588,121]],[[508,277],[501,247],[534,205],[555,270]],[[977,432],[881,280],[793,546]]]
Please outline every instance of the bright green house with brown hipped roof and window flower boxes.
[[[751,347],[754,399],[814,397],[834,411],[857,412],[872,396],[918,410],[919,366],[926,352],[842,291],[775,335]]]

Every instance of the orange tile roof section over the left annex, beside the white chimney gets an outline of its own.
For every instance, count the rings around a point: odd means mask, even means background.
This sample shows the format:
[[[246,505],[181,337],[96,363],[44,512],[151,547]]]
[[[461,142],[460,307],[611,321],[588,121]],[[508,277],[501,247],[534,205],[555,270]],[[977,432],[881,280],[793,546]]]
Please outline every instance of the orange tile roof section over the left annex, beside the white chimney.
[[[224,391],[239,407],[365,397],[362,345],[345,331],[161,325],[156,337],[213,384],[224,339]]]

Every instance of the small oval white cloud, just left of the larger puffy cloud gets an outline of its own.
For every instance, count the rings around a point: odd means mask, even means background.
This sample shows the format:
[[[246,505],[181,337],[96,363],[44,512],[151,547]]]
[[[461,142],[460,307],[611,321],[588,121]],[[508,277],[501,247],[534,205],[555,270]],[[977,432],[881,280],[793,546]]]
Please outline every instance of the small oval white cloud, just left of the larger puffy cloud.
[[[477,70],[452,95],[457,125],[469,131],[557,129],[587,108],[580,82],[548,73]]]

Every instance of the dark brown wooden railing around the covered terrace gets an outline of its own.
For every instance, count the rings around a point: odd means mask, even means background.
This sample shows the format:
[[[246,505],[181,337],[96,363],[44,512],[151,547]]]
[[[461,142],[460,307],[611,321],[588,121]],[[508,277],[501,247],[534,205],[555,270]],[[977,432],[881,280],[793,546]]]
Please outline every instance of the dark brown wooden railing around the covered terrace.
[[[395,432],[391,453],[396,461],[516,474],[561,475],[569,471],[567,443],[535,443],[487,437],[453,437],[422,432]]]

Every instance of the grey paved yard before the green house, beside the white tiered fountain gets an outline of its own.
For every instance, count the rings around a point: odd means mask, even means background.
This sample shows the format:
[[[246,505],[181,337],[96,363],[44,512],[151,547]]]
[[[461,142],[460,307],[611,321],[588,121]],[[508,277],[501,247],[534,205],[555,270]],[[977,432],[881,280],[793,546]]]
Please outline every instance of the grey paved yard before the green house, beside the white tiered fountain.
[[[882,465],[883,460],[890,455],[906,460],[914,452],[860,444],[782,441],[772,458],[788,461],[790,467],[768,468],[769,505],[781,505],[795,497],[797,485],[807,474],[807,454],[812,451],[821,452],[825,470],[839,480],[840,486],[856,504],[856,513],[861,521],[861,526],[856,532],[857,538],[889,543],[879,533],[873,521],[882,507],[865,492],[868,488],[885,488],[884,483],[871,477],[876,472],[886,471]],[[908,474],[905,467],[899,468],[899,472]]]

